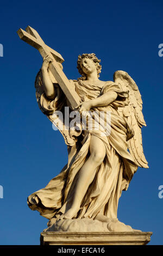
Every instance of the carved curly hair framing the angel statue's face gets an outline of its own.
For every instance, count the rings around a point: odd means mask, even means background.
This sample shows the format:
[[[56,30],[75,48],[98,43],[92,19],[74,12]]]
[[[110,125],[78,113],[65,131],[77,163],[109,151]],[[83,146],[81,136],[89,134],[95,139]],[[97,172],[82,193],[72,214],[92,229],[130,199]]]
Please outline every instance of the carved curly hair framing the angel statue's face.
[[[80,62],[83,58],[89,58],[93,60],[93,62],[96,64],[97,75],[99,77],[99,73],[101,73],[101,69],[102,69],[102,66],[99,65],[99,63],[101,62],[101,59],[98,59],[95,53],[83,53],[82,56],[81,55],[78,56],[78,61],[77,61],[77,69],[79,71],[79,74],[82,75],[82,77],[79,77],[78,79],[86,80],[86,75],[80,66]]]

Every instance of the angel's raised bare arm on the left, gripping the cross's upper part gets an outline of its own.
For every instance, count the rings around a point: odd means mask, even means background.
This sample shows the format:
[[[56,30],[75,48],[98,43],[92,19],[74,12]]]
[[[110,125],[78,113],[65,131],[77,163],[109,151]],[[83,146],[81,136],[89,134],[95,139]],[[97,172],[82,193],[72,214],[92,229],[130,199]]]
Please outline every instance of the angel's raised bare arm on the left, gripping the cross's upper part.
[[[43,59],[41,70],[42,70],[42,78],[43,78],[43,89],[44,89],[48,99],[53,100],[54,99],[54,86],[53,86],[51,78],[49,77],[49,74],[48,74],[49,62],[51,62],[51,58],[49,58],[48,56],[45,59]]]

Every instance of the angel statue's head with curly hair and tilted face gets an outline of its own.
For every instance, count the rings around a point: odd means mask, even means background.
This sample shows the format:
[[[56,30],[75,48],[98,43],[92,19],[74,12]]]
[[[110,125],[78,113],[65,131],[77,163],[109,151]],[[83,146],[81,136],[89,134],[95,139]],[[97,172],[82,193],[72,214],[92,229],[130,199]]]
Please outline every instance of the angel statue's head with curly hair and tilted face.
[[[99,65],[101,59],[98,59],[95,53],[83,53],[82,56],[78,56],[77,61],[77,69],[82,75],[82,79],[85,80],[87,74],[90,74],[93,71],[97,71],[97,75],[99,77],[99,73],[101,73],[102,66]]]

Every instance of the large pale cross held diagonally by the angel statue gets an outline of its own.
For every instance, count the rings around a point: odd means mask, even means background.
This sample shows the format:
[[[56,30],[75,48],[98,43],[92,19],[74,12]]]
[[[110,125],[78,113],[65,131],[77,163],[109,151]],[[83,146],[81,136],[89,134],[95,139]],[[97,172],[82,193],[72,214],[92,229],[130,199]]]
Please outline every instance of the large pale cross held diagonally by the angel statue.
[[[35,29],[28,26],[26,28],[26,31],[23,31],[23,29],[20,28],[18,29],[17,34],[20,39],[39,50],[43,58],[48,55],[53,59],[53,62],[49,64],[49,69],[51,70],[54,78],[59,83],[59,86],[66,95],[72,108],[76,108],[77,105],[79,105],[80,103],[80,98],[58,64],[58,62],[64,62],[64,59],[58,52],[54,51],[52,48],[47,46],[45,42],[43,42],[40,35],[37,33],[37,31],[35,31]]]

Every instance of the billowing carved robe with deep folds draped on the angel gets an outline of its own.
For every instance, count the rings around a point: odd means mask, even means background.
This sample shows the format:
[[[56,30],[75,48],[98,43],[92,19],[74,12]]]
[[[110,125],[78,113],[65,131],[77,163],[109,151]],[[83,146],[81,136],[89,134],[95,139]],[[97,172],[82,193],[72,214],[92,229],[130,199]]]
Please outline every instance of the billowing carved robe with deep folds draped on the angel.
[[[117,99],[106,107],[93,108],[94,111],[111,112],[111,133],[109,136],[102,136],[101,131],[84,131],[82,143],[76,143],[68,147],[68,163],[55,178],[49,181],[45,188],[31,194],[28,197],[30,209],[37,210],[40,215],[51,219],[64,214],[70,208],[73,199],[73,189],[78,179],[80,168],[89,155],[89,144],[91,135],[100,138],[106,148],[106,156],[96,170],[95,179],[90,184],[78,214],[78,218],[95,218],[101,213],[109,218],[117,217],[118,200],[122,190],[127,190],[137,165],[128,152],[127,135],[133,136],[131,127],[127,121],[118,114],[117,108],[128,105],[128,91],[119,84],[108,81],[102,87],[93,85],[88,81],[79,80],[74,82],[76,92],[82,101],[95,99],[104,93],[114,91],[118,94]],[[56,110],[56,100],[47,100],[45,94],[41,95],[42,108],[46,113]],[[67,106],[66,100],[64,101]],[[81,137],[80,137],[81,138]],[[32,198],[39,197],[40,203],[32,204]]]

